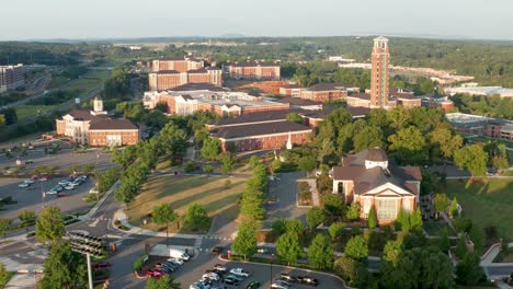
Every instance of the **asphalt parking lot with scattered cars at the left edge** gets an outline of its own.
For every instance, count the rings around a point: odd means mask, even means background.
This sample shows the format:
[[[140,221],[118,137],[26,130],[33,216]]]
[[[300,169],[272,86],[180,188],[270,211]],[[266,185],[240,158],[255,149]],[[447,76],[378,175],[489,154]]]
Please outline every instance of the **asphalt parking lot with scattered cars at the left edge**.
[[[50,178],[46,182],[35,181],[29,187],[19,187],[24,180],[29,178],[0,178],[0,198],[11,196],[18,204],[8,205],[0,210],[0,218],[16,219],[23,210],[35,211],[38,215],[43,206],[54,206],[61,209],[62,212],[82,211],[88,208],[88,204],[82,200],[87,193],[94,186],[94,183],[88,178],[83,184],[75,189],[62,189],[65,197],[58,197],[57,194],[46,194],[43,198],[43,192],[48,192],[57,186],[59,181],[65,177]]]

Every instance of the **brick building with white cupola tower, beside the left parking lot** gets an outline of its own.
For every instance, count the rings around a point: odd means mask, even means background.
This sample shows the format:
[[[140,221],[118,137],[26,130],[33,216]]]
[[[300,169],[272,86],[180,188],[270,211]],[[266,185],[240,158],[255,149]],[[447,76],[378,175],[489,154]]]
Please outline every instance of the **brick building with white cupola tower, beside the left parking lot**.
[[[71,138],[75,143],[92,147],[137,144],[139,128],[128,119],[113,119],[103,111],[100,99],[93,101],[94,109],[72,111],[56,119],[57,135]]]

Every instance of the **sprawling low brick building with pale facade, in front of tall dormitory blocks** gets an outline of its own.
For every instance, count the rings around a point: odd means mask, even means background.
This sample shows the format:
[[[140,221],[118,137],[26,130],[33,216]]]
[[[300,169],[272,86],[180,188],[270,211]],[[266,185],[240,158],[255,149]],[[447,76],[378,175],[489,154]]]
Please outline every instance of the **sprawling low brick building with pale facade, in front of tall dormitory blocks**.
[[[218,115],[288,111],[289,105],[265,101],[246,92],[232,92],[208,83],[190,83],[168,91],[146,92],[145,106],[153,108],[159,102],[168,105],[168,114],[191,115],[212,112]]]

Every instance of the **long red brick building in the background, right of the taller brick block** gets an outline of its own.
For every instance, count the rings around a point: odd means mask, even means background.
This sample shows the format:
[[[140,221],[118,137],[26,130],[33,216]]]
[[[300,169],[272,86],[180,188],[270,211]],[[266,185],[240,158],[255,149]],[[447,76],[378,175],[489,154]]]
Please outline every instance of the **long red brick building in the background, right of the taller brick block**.
[[[228,62],[223,66],[223,73],[231,79],[280,80],[280,62],[247,61]]]

